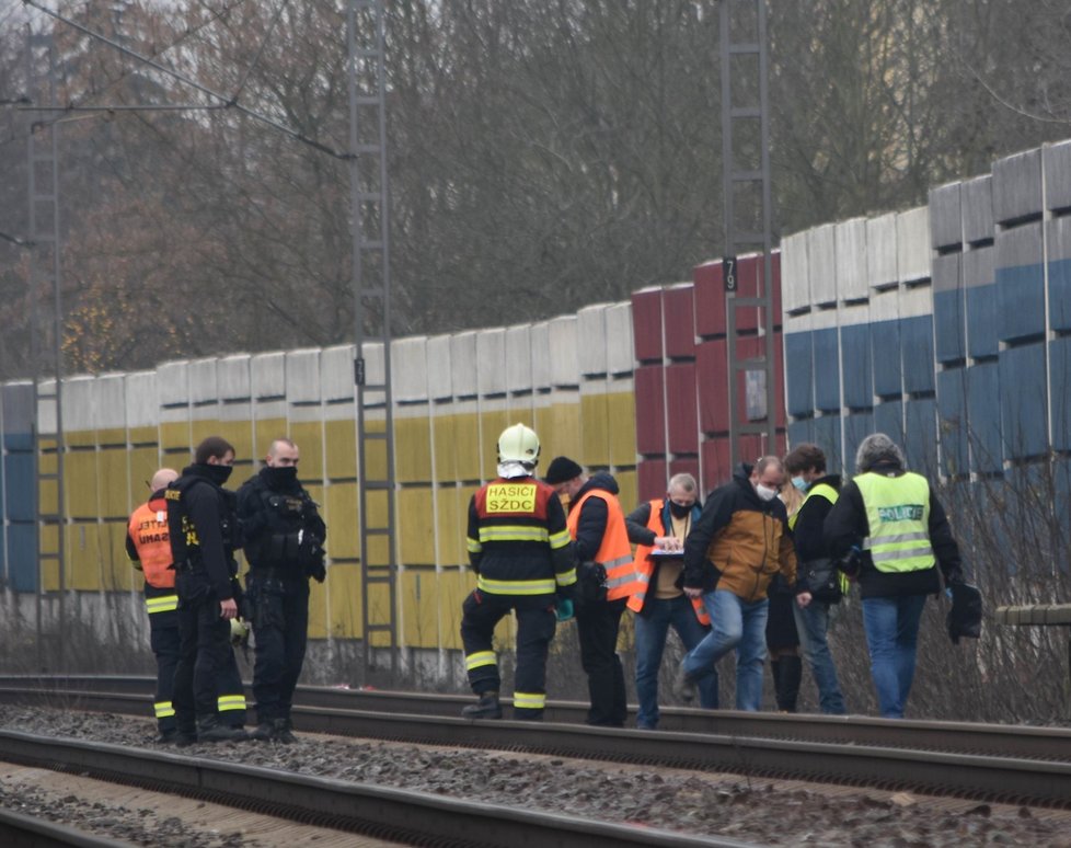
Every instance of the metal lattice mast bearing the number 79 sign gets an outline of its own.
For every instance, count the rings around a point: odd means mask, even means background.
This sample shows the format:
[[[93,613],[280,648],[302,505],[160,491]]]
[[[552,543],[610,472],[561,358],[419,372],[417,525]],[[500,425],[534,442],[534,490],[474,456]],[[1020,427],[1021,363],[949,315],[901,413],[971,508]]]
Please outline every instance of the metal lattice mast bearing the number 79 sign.
[[[741,436],[764,436],[763,454],[774,452],[778,445],[767,41],[765,0],[722,0],[722,168],[725,204],[725,259],[722,264],[729,366],[729,450],[734,467],[741,459]],[[762,276],[755,296],[740,297],[738,294],[736,259],[741,248],[762,251]],[[765,344],[758,357],[740,357],[740,336],[737,332],[739,309],[759,311],[759,329]],[[737,392],[740,374],[745,377],[746,388],[744,416]]]

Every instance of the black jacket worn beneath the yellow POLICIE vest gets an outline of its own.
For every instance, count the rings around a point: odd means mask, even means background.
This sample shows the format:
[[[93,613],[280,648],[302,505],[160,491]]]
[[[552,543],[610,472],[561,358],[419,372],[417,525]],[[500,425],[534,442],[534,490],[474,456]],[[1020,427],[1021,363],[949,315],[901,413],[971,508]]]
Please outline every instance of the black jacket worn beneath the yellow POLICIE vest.
[[[905,473],[903,469],[892,465],[877,465],[873,469],[878,473]],[[833,559],[843,558],[852,547],[862,548],[863,540],[870,536],[870,523],[866,519],[866,506],[863,495],[854,481],[845,483],[840,497],[829,511],[824,524],[822,539],[828,546]],[[930,485],[930,546],[936,564],[922,571],[884,572],[874,568],[871,554],[862,551],[859,555],[856,576],[860,594],[863,598],[902,597],[906,595],[933,595],[941,591],[941,580],[937,566],[944,573],[945,581],[957,583],[963,580],[963,566],[959,561],[959,546],[952,535],[952,526],[945,515],[944,507],[937,500],[937,494]],[[849,572],[851,573],[851,572]]]

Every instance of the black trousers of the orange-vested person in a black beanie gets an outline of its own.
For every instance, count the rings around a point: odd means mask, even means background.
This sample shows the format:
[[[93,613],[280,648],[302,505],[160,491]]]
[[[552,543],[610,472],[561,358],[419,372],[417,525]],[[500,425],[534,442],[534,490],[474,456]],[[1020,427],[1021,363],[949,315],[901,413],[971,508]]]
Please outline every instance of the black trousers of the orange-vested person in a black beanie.
[[[624,669],[618,656],[618,630],[627,598],[596,600],[576,609],[576,634],[580,641],[580,665],[588,676],[591,707],[588,724],[623,727],[627,718]]]

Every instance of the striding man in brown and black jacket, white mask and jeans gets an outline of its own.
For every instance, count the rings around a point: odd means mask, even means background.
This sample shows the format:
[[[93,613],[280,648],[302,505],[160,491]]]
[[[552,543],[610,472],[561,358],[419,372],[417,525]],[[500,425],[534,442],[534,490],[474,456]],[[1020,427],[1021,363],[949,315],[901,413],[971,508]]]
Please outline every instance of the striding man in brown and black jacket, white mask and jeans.
[[[712,630],[689,651],[673,681],[673,694],[695,698],[696,683],[714,673],[715,664],[736,649],[736,708],[762,706],[765,664],[767,587],[781,572],[796,582],[796,553],[788,517],[778,491],[784,467],[776,457],[742,465],[732,482],[715,489],[684,542],[684,594],[701,597]],[[805,607],[806,592],[796,596]]]

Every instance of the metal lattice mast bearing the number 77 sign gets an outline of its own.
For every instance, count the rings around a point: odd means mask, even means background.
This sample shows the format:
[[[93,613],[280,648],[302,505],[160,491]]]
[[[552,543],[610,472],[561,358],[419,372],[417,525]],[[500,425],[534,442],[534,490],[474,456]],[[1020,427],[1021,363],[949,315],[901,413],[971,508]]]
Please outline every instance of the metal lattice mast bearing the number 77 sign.
[[[346,28],[361,637],[366,675],[372,665],[373,648],[389,650],[393,675],[398,669],[398,547],[383,0],[349,0]],[[366,342],[370,347],[381,345],[381,382],[368,381]]]

